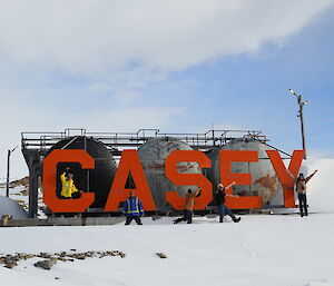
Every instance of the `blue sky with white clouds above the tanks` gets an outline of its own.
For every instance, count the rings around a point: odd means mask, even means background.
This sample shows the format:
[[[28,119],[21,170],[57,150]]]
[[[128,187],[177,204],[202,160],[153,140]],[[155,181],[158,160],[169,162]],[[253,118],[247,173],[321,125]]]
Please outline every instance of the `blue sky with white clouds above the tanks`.
[[[21,131],[262,130],[334,156],[334,0],[0,0],[0,178]],[[20,150],[13,178],[28,174]]]

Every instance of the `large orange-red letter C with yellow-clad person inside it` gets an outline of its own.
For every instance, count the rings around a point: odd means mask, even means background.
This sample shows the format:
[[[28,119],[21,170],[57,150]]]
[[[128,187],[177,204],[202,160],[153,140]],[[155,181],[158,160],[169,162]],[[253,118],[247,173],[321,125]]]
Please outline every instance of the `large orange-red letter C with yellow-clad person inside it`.
[[[95,160],[85,150],[53,150],[43,160],[43,201],[53,213],[84,213],[95,200],[94,193],[82,193],[79,199],[56,196],[57,165],[61,161],[80,162],[84,169],[94,169]]]

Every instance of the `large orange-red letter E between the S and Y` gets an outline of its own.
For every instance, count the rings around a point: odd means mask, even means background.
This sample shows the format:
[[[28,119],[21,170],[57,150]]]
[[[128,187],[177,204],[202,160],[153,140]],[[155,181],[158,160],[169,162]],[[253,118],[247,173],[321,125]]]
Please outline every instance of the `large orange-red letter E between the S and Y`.
[[[257,151],[244,150],[219,150],[220,181],[224,186],[235,181],[236,185],[252,185],[250,174],[233,174],[230,165],[233,161],[258,161]],[[232,188],[226,191],[232,194]],[[258,196],[226,197],[226,205],[229,208],[261,208],[262,198]]]

